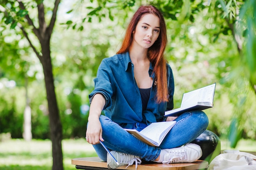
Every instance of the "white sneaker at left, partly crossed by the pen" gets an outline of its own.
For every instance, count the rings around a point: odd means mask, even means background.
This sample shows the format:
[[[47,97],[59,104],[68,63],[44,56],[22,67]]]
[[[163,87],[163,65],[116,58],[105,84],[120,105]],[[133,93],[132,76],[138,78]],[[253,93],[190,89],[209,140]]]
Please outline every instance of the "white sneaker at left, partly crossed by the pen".
[[[119,165],[117,165],[116,161],[108,153],[108,155],[107,155],[107,165],[108,165],[109,169],[110,168],[111,169],[116,169],[119,166],[123,166],[123,165],[130,166],[135,162],[135,169],[137,170],[138,163],[139,164],[141,163],[141,160],[139,159],[139,157],[134,156],[134,155],[129,155],[129,154],[126,154],[126,153],[117,152],[115,150],[110,151],[110,153],[115,157],[115,159],[117,160]]]

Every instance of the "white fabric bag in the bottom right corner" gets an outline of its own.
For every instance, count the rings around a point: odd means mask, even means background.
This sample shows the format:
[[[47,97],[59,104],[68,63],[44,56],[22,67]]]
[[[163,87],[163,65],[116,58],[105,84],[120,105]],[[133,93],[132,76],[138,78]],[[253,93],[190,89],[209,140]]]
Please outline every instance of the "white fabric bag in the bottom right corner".
[[[224,150],[211,161],[208,170],[256,170],[256,156],[239,150]]]

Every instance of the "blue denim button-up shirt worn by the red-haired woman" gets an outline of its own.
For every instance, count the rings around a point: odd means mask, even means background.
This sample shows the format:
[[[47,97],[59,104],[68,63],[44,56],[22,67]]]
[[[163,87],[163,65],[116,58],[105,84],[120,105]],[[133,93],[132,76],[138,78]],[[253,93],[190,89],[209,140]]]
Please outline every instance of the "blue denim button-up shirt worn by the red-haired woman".
[[[157,83],[150,63],[148,74],[153,78],[153,86],[146,111],[142,112],[139,87],[134,78],[134,65],[129,53],[116,54],[102,60],[97,77],[94,79],[95,88],[89,94],[90,103],[95,94],[100,93],[106,99],[103,110],[105,116],[123,128],[132,129],[135,123],[149,125],[153,122],[165,121],[164,111],[173,109],[174,80],[170,65],[167,67],[167,83],[169,101],[156,102]]]

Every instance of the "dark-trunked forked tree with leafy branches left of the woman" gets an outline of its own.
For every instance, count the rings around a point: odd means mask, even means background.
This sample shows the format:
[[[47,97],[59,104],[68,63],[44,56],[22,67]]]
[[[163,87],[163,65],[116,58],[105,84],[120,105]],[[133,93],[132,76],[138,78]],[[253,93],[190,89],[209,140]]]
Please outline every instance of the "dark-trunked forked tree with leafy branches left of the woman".
[[[46,10],[43,2],[43,0],[30,1],[27,3],[23,3],[21,0],[2,0],[0,2],[0,11],[4,13],[3,19],[5,24],[9,24],[10,28],[13,29],[16,29],[16,27],[20,28],[23,36],[27,39],[30,47],[33,49],[43,66],[49,109],[50,138],[52,140],[52,169],[63,170],[63,154],[61,145],[62,125],[55,94],[50,50],[50,39],[56,22],[56,14],[60,0],[56,0],[54,2],[52,17],[49,20],[49,24],[47,24],[46,21]],[[29,14],[29,10],[33,10],[34,7],[37,7],[37,19],[32,18]],[[49,10],[49,8],[47,10]],[[17,34],[19,34],[18,31]],[[40,46],[37,46],[37,42],[34,40],[34,35],[39,41]]]

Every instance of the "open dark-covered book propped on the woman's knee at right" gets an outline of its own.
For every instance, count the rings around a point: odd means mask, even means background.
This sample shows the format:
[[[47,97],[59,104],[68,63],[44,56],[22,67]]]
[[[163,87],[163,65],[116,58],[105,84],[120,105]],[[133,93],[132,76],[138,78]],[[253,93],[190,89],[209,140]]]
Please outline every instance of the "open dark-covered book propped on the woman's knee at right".
[[[204,110],[213,107],[216,83],[184,93],[178,109],[166,111],[164,116],[180,116],[186,111]]]

